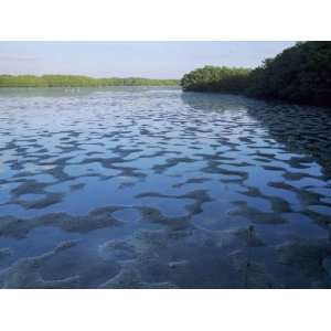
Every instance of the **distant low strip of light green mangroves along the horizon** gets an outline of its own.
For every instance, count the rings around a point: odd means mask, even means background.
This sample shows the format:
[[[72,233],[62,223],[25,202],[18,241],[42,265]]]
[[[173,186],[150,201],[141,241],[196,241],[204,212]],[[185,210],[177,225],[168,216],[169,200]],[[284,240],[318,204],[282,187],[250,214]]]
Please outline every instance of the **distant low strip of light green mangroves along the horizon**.
[[[0,75],[0,87],[93,87],[93,86],[164,86],[178,85],[175,79],[93,78],[75,75]]]

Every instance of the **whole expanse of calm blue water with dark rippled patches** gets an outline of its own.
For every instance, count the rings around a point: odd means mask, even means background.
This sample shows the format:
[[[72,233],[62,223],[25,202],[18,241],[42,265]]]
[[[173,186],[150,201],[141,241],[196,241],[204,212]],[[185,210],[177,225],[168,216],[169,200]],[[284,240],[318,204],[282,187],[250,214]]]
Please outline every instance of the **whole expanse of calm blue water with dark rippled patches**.
[[[0,90],[0,287],[331,287],[331,111],[177,88]]]

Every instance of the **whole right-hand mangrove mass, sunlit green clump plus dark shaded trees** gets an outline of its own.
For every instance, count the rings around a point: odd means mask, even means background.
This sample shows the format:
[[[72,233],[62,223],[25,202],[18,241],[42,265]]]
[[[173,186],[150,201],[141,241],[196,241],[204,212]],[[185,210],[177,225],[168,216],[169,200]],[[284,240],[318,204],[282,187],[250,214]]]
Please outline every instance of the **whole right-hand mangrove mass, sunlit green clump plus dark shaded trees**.
[[[181,81],[184,90],[331,106],[331,42],[300,42],[253,71],[205,66]]]

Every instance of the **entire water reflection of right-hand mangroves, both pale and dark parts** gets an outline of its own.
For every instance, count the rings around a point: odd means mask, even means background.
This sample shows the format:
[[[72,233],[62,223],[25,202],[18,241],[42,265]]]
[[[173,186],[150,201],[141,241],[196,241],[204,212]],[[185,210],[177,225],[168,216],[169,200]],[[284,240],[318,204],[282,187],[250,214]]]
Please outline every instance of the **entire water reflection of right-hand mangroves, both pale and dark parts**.
[[[183,93],[182,100],[203,111],[246,109],[285,150],[311,157],[331,179],[331,109],[206,93]]]

